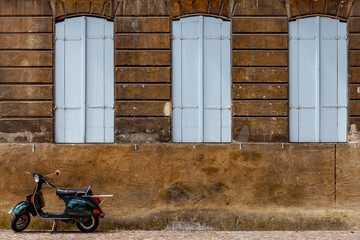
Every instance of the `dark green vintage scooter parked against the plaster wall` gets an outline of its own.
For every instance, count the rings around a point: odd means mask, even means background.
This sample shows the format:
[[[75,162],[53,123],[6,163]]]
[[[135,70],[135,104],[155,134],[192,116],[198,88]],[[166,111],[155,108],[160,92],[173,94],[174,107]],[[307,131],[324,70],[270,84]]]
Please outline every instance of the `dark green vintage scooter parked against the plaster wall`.
[[[99,218],[103,218],[105,213],[102,211],[100,205],[107,197],[113,195],[93,195],[91,186],[87,189],[56,189],[56,195],[61,198],[66,205],[63,213],[44,213],[42,208],[45,206],[41,187],[43,183],[56,188],[51,184],[46,177],[50,175],[60,175],[60,171],[48,175],[41,175],[39,173],[29,173],[35,181],[34,191],[31,195],[26,197],[26,201],[16,204],[16,206],[9,211],[13,214],[11,220],[11,228],[15,232],[21,232],[27,228],[30,223],[30,214],[34,217],[39,215],[44,219],[54,220],[51,233],[56,231],[58,221],[66,223],[76,223],[76,226],[82,232],[93,232],[99,225]],[[99,198],[104,198],[101,201]]]

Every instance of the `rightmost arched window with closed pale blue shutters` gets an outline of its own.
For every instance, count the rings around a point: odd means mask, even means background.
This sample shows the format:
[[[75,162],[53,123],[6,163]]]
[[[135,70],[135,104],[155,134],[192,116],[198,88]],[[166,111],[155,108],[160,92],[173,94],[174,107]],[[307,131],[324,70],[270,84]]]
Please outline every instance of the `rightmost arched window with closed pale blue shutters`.
[[[290,22],[290,141],[346,142],[347,29],[327,17]]]

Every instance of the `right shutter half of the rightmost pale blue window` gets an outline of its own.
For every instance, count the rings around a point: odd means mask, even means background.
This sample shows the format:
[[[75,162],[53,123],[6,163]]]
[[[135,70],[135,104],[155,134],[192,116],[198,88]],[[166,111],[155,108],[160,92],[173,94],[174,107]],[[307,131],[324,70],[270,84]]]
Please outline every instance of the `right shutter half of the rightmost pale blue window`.
[[[346,142],[346,23],[320,18],[320,37],[320,141]]]

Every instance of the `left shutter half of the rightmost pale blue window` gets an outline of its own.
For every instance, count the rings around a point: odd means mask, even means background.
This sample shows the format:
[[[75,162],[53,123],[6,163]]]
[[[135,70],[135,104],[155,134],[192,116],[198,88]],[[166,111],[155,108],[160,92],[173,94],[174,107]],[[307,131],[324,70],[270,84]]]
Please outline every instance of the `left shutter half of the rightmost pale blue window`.
[[[290,141],[319,140],[317,29],[316,17],[290,24]]]

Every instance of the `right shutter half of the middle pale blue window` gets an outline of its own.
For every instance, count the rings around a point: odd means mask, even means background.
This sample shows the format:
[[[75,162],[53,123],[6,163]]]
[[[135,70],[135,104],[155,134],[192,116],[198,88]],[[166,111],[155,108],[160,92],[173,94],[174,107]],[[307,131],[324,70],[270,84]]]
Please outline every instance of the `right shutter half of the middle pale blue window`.
[[[204,142],[230,142],[230,23],[204,17]]]

